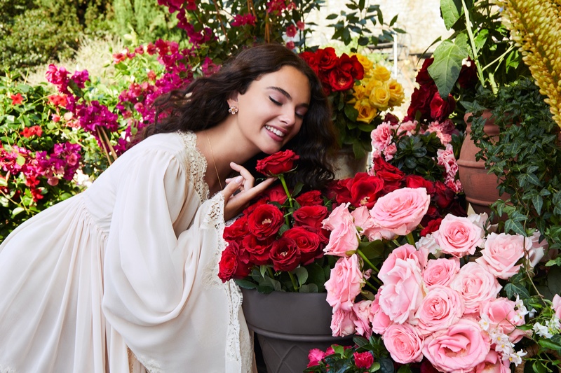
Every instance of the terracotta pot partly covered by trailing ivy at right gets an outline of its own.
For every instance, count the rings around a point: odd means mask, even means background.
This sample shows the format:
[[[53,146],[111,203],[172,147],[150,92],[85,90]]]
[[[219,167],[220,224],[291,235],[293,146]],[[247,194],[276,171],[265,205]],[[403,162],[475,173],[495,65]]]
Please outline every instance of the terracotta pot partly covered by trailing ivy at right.
[[[466,113],[464,120],[466,120],[471,113]],[[499,127],[494,125],[494,120],[491,118],[491,113],[486,111],[482,115],[487,118],[487,122],[483,130],[489,136],[498,139]],[[480,148],[475,146],[471,139],[471,123],[466,121],[466,138],[461,145],[460,156],[458,159],[458,172],[461,181],[461,186],[466,193],[466,201],[471,204],[475,213],[490,213],[490,205],[497,199],[507,199],[510,197],[507,193],[499,195],[499,181],[495,174],[487,173],[485,162],[483,160],[475,160],[475,154],[479,153]]]

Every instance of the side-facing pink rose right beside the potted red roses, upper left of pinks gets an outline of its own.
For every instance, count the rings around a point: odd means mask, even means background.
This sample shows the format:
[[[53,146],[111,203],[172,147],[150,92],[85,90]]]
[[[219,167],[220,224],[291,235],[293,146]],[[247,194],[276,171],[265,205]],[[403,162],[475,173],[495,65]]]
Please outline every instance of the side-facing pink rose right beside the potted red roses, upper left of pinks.
[[[349,204],[341,204],[323,220],[323,227],[331,230],[329,243],[323,249],[327,255],[349,256],[358,248],[360,235],[353,223],[353,216],[347,207]]]

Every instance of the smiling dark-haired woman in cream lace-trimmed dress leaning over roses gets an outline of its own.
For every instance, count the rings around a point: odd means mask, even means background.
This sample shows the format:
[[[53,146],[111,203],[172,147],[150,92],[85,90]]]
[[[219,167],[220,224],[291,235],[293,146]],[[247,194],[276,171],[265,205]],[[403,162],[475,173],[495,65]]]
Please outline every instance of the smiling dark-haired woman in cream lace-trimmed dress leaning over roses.
[[[224,219],[271,184],[241,166],[259,153],[295,150],[292,183],[332,178],[327,100],[302,59],[261,45],[158,114],[88,190],[0,246],[1,373],[251,370],[241,292],[217,278]]]

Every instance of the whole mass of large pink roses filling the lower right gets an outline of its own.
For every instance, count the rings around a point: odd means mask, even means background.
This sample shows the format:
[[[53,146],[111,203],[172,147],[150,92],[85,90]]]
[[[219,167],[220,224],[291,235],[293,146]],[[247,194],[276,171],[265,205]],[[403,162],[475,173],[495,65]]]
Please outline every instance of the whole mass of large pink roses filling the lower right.
[[[526,355],[515,346],[524,337],[537,342],[542,355],[561,352],[561,297],[540,300],[520,286],[544,255],[539,233],[498,234],[486,225],[485,214],[448,214],[438,229],[414,242],[412,232],[428,203],[424,190],[401,189],[379,199],[368,213],[341,205],[327,218],[332,233],[325,250],[340,257],[325,284],[332,332],[367,339],[356,338],[351,351],[311,352],[306,372],[330,371],[327,365],[336,363],[355,366],[353,353],[379,359],[386,351],[408,367],[510,372],[511,363],[520,364]],[[355,243],[404,234],[410,244],[393,249],[379,269]],[[534,367],[544,372],[559,364],[543,359]]]

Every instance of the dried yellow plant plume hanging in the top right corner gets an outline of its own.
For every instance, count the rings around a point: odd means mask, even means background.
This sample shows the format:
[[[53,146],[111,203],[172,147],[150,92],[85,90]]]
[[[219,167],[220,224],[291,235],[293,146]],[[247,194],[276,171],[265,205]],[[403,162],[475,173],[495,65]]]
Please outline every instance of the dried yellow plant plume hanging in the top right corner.
[[[496,0],[496,5],[561,127],[561,1]]]

